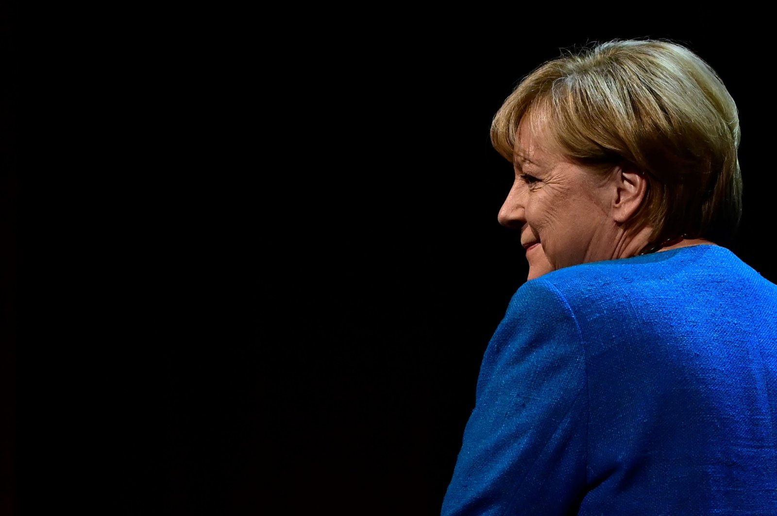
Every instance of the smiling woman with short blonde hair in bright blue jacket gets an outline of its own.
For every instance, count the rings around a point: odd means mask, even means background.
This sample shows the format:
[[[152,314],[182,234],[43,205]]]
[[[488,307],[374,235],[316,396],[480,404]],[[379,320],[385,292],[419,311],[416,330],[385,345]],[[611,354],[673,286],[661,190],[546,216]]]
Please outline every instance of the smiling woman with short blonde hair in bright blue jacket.
[[[527,281],[486,354],[443,514],[777,514],[777,286],[720,246],[737,108],[685,47],[614,41],[493,120]]]

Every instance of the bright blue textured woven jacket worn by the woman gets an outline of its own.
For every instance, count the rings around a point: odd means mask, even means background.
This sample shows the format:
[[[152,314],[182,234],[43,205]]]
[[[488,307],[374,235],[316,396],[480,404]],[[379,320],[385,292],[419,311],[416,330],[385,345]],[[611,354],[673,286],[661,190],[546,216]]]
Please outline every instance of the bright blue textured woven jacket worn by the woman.
[[[442,514],[777,514],[777,285],[719,246],[527,281]]]

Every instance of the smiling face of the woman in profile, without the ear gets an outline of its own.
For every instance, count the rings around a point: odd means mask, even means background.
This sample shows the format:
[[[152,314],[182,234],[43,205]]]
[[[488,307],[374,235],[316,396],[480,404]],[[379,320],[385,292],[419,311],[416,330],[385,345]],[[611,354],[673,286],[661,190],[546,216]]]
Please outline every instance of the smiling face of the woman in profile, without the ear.
[[[526,117],[524,117],[525,119]],[[524,121],[514,147],[515,180],[500,224],[521,232],[528,279],[551,270],[613,258],[617,232],[608,178],[549,150]]]

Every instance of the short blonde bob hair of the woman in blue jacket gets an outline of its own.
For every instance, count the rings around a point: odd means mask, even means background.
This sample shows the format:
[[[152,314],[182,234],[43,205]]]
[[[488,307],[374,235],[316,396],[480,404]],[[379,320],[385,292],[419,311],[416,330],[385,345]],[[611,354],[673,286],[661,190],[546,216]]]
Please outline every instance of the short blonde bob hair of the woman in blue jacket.
[[[555,150],[601,173],[636,166],[648,188],[631,223],[652,226],[652,243],[733,239],[742,199],[737,106],[688,48],[614,40],[542,64],[493,118],[491,141],[510,162],[524,117]]]

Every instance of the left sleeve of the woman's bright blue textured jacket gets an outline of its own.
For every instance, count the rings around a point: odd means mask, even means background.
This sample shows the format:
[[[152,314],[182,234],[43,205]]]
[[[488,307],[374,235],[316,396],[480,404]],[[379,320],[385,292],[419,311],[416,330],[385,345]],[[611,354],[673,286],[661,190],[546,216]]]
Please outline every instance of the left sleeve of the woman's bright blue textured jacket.
[[[576,514],[586,490],[584,343],[545,278],[525,283],[490,340],[442,514]]]

